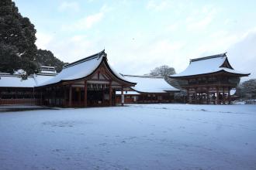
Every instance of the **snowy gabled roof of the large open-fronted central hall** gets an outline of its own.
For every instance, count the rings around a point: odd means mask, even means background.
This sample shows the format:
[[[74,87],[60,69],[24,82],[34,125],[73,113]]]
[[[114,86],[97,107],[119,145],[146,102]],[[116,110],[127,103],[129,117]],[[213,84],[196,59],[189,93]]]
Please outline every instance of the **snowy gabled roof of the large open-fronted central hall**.
[[[61,83],[64,81],[83,79],[87,76],[92,75],[92,73],[94,73],[95,70],[99,68],[102,62],[106,64],[109,71],[112,73],[113,76],[116,76],[118,80],[133,85],[136,84],[126,80],[119,73],[116,73],[114,70],[112,70],[111,66],[109,66],[109,63],[107,62],[106,56],[107,54],[105,53],[105,50],[102,50],[101,52],[95,53],[92,56],[88,56],[84,59],[75,61],[74,63],[67,64],[66,66],[64,66],[64,69],[61,71],[61,73],[58,73],[57,76],[47,82],[40,83],[38,87],[47,86],[54,83]]]

